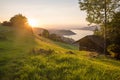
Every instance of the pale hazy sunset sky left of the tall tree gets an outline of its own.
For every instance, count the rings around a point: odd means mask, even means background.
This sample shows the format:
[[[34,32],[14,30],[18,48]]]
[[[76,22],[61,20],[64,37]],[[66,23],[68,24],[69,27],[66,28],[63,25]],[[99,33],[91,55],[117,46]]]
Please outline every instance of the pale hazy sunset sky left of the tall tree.
[[[0,21],[21,13],[43,25],[87,25],[78,0],[0,0]]]

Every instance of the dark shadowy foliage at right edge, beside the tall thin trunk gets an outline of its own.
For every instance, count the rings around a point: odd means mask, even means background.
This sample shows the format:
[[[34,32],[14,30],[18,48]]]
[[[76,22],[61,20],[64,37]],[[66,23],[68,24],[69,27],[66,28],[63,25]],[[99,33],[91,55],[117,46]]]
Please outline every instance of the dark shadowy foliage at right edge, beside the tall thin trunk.
[[[115,58],[120,59],[120,12],[117,12],[112,21],[108,24],[107,39],[109,40],[108,50],[114,52]]]

